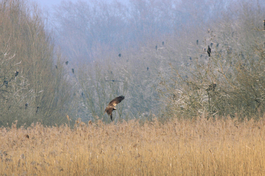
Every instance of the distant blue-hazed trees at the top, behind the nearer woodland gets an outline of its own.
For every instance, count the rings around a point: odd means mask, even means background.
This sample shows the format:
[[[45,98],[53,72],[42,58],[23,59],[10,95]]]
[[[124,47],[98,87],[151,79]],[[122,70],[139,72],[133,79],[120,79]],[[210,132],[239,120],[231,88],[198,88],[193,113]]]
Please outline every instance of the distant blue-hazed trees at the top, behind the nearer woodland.
[[[225,0],[62,1],[54,8],[54,24],[65,55],[82,63],[109,52],[162,43],[166,36],[181,36],[183,31],[206,30],[206,24],[221,18],[230,5],[233,2]]]

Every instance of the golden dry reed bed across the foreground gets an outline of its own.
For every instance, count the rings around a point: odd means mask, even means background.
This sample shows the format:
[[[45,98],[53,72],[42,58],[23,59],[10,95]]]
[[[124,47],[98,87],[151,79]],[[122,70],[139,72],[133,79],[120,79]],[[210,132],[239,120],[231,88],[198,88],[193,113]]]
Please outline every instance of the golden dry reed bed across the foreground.
[[[265,175],[265,120],[0,128],[0,175]]]

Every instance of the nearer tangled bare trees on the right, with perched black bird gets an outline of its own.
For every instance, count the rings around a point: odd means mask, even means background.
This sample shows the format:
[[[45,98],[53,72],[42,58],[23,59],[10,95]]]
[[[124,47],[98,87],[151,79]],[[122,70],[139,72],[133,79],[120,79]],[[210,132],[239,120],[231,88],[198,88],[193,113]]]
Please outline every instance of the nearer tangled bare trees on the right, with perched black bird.
[[[166,117],[264,116],[264,7],[244,4],[237,8],[206,32],[203,50],[201,40],[199,44],[193,40],[189,64],[182,68],[170,64],[171,72],[160,74]]]

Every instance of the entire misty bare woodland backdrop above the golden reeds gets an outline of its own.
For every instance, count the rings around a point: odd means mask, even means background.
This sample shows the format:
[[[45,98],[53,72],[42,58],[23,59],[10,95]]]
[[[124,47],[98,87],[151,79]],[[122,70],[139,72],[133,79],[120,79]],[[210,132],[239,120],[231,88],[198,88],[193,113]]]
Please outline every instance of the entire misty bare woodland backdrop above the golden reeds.
[[[260,1],[0,4],[0,126],[264,114]]]

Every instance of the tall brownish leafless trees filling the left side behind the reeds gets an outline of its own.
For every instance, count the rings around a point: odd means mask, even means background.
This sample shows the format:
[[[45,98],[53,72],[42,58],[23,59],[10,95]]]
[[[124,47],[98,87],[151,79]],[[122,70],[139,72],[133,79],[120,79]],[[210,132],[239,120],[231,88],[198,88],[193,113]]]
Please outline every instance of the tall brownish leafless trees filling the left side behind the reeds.
[[[0,23],[0,126],[66,121],[71,86],[38,7],[0,1]]]

